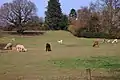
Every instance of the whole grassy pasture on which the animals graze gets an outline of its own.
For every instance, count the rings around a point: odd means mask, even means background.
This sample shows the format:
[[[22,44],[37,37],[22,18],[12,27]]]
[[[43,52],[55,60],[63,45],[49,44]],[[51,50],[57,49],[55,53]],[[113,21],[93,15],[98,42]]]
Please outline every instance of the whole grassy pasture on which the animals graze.
[[[103,44],[101,39],[100,47],[93,48],[95,39],[48,31],[40,36],[5,35],[0,42],[12,38],[16,39],[14,44],[24,44],[28,52],[2,51],[0,80],[85,80],[86,68],[92,69],[93,80],[120,80],[120,41]],[[57,43],[60,39],[62,45]],[[52,52],[45,52],[46,42],[51,43]]]

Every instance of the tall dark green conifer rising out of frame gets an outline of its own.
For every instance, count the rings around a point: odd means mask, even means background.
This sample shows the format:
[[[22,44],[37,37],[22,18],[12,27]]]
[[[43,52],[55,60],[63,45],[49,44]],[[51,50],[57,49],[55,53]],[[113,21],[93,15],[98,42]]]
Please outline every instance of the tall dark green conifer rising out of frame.
[[[45,23],[52,30],[61,29],[60,23],[62,21],[62,11],[60,8],[59,0],[49,0],[47,11],[45,12]]]

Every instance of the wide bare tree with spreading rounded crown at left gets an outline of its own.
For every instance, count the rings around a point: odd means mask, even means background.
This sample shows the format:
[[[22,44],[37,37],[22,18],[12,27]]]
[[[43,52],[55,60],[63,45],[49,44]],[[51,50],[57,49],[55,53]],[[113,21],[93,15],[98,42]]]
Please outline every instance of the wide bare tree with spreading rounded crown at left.
[[[0,8],[0,20],[16,27],[19,33],[24,31],[24,25],[34,15],[36,15],[36,6],[30,0],[13,0]]]

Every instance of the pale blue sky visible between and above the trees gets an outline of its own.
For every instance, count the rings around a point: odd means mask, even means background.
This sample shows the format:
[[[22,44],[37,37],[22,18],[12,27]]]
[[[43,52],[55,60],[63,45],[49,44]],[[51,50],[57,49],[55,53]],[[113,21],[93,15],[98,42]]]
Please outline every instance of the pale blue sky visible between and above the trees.
[[[10,2],[12,0],[0,0],[0,6],[3,3]],[[37,14],[40,17],[45,17],[44,12],[46,11],[47,2],[48,0],[31,0],[36,4],[37,7]],[[80,9],[81,6],[89,6],[91,1],[95,0],[60,0],[61,3],[61,9],[64,14],[69,14],[70,10],[72,8],[74,9]]]

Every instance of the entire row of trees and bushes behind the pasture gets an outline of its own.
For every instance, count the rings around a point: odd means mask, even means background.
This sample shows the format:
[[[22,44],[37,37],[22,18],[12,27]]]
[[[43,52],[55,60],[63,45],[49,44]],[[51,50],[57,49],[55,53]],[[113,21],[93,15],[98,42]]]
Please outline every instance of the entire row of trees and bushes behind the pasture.
[[[63,14],[59,0],[49,0],[45,18],[29,0],[13,0],[0,7],[3,30],[67,30],[78,37],[120,38],[120,0],[97,0]]]

